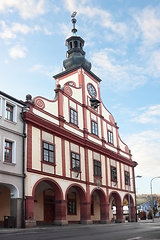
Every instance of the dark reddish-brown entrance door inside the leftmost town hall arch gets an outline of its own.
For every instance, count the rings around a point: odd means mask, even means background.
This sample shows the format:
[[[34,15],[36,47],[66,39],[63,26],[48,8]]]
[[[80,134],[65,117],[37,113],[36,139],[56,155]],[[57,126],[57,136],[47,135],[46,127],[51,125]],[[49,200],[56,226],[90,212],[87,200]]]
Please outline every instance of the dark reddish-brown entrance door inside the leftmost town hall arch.
[[[45,196],[44,199],[44,222],[53,222],[55,219],[55,203],[53,196]]]

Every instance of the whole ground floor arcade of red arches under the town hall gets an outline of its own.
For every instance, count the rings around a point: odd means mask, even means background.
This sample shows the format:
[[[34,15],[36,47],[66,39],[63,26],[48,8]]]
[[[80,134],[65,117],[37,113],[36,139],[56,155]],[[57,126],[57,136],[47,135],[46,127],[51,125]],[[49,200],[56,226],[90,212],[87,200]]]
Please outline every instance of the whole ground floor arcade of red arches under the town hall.
[[[134,198],[130,197],[131,220],[135,221]],[[124,222],[123,204],[128,192],[42,178],[33,184],[32,194],[25,200],[27,226],[38,224],[67,225],[94,222]],[[113,216],[113,206],[116,214]]]

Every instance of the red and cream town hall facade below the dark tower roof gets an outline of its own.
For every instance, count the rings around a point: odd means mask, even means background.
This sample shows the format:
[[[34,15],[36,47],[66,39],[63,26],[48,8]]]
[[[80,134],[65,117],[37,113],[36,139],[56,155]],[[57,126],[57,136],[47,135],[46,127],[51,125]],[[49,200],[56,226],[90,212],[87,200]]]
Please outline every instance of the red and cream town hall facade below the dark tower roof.
[[[54,100],[27,96],[26,226],[107,223],[113,205],[123,222],[128,192],[135,219],[136,163],[102,103],[101,80],[83,64],[54,78]]]

